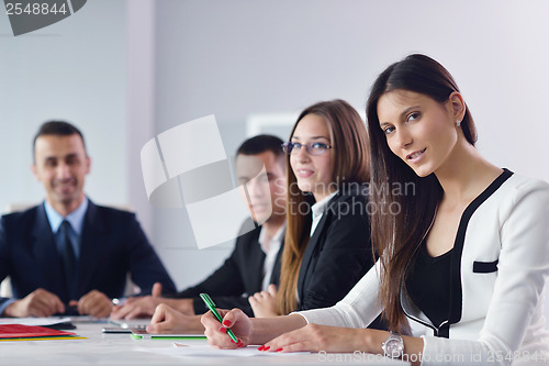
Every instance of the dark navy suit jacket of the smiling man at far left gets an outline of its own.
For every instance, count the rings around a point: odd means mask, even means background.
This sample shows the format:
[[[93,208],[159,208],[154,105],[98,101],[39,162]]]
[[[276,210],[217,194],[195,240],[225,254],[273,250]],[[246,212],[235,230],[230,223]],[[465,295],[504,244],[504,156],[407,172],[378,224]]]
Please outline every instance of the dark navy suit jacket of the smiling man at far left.
[[[135,214],[88,204],[81,233],[76,278],[68,293],[63,259],[44,204],[3,215],[0,221],[0,280],[11,277],[15,298],[37,288],[56,293],[64,303],[97,289],[110,298],[122,297],[130,271],[142,292],[159,281],[167,290],[175,285],[148,243]],[[0,298],[0,306],[7,301]]]

